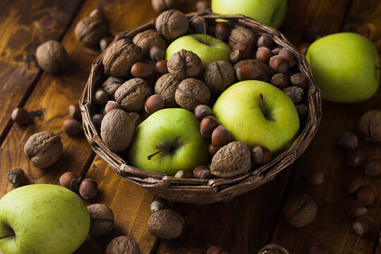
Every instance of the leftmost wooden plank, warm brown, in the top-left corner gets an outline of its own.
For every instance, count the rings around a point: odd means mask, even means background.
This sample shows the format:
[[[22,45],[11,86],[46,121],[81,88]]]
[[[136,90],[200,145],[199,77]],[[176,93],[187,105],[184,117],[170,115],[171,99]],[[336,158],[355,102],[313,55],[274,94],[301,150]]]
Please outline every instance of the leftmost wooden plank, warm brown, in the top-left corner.
[[[11,127],[11,111],[25,103],[40,77],[36,48],[59,40],[82,2],[0,1],[0,142]]]

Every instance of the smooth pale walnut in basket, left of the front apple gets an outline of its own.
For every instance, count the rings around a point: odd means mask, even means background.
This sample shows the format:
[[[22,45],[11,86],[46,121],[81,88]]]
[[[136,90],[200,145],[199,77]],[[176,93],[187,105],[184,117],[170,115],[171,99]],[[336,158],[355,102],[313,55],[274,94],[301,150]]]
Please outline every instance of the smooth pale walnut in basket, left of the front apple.
[[[107,113],[101,123],[101,138],[109,150],[120,152],[130,145],[135,131],[131,116],[122,109],[113,109]]]

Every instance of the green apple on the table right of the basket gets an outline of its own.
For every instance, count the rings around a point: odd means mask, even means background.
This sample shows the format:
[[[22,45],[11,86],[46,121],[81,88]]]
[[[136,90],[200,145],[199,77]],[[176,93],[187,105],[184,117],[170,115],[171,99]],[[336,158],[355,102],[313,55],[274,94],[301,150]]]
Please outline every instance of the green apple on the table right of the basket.
[[[362,102],[377,91],[380,61],[368,38],[341,32],[310,45],[307,61],[322,98],[331,102]]]

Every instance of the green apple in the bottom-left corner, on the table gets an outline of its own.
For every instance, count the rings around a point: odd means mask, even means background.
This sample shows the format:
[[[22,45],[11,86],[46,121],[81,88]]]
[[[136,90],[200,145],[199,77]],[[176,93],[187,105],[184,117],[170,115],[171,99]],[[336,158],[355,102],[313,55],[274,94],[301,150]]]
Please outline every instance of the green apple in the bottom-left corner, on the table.
[[[23,186],[0,200],[3,254],[71,254],[85,241],[89,229],[85,204],[62,186]]]

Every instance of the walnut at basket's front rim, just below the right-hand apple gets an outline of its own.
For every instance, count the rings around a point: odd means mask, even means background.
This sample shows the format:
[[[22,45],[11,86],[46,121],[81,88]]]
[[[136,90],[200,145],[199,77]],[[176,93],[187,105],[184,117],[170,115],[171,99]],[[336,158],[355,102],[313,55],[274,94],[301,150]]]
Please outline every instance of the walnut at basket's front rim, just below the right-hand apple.
[[[246,173],[251,168],[250,148],[241,141],[224,145],[213,156],[210,171],[217,177],[231,177]]]

